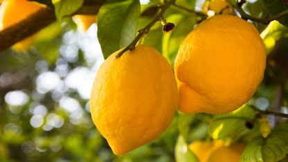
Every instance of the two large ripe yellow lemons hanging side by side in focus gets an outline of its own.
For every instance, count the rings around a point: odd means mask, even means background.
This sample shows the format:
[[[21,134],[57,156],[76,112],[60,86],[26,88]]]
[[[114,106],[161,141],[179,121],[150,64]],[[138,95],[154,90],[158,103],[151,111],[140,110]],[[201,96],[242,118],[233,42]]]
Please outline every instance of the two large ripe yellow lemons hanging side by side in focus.
[[[90,99],[93,122],[117,155],[160,136],[176,106],[212,114],[239,108],[253,96],[266,65],[255,26],[232,15],[205,19],[187,35],[175,75],[152,47],[137,45],[116,58],[119,51],[99,68]]]

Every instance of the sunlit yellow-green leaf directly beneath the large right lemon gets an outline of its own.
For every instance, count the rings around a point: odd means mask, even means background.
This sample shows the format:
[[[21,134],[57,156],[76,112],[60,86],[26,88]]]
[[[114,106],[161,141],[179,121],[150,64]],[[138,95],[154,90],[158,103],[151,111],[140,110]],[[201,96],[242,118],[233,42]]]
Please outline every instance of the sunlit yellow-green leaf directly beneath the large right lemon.
[[[208,133],[214,139],[225,139],[246,130],[245,122],[255,118],[255,111],[248,105],[223,115],[215,115],[208,127]]]

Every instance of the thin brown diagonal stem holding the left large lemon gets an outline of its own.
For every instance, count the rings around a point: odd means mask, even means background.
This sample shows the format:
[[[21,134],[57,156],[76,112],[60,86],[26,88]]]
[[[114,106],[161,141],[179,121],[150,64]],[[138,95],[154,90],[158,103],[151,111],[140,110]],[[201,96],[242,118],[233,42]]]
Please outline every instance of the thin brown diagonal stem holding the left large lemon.
[[[163,17],[163,14],[167,10],[167,8],[169,8],[171,4],[175,3],[175,1],[176,0],[171,0],[171,1],[168,1],[167,3],[160,5],[159,6],[160,11],[158,12],[158,14],[155,15],[155,17],[152,19],[152,21],[149,24],[147,24],[143,29],[140,29],[138,31],[139,33],[137,34],[136,38],[127,47],[125,47],[122,51],[120,51],[119,54],[117,54],[116,58],[120,58],[128,50],[135,49],[135,45],[137,44],[137,42],[142,38],[142,36],[149,33],[151,27]]]

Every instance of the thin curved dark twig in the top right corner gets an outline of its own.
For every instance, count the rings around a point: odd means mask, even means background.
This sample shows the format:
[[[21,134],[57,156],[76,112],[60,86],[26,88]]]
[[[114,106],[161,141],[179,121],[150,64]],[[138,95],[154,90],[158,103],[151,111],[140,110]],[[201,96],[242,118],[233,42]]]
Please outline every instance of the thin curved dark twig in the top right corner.
[[[250,19],[253,22],[260,22],[262,24],[269,24],[269,22],[272,22],[273,20],[279,19],[285,15],[288,15],[288,10],[284,10],[281,13],[278,13],[277,15],[274,15],[273,17],[266,16],[264,18],[258,18],[258,17],[253,17],[251,15],[248,15],[242,8],[242,5],[246,1],[240,1],[236,5],[228,1],[234,8],[238,11],[238,13],[242,16],[243,19]]]

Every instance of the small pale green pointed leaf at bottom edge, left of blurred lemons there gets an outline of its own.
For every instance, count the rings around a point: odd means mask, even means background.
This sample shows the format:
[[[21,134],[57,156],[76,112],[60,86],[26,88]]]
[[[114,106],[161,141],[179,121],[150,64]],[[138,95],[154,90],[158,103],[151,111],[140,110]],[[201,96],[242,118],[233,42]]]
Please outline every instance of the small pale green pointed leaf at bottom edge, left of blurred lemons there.
[[[175,146],[175,158],[176,162],[198,162],[197,157],[188,148],[183,136],[178,136]]]

